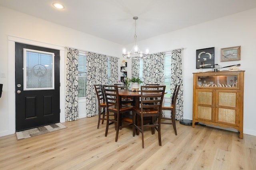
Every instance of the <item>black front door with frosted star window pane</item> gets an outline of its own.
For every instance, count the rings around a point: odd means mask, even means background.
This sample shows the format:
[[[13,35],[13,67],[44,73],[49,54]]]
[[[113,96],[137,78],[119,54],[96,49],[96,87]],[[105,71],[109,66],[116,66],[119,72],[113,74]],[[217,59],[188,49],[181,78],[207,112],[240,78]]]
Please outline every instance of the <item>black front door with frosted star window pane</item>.
[[[60,51],[15,43],[16,131],[60,122]]]

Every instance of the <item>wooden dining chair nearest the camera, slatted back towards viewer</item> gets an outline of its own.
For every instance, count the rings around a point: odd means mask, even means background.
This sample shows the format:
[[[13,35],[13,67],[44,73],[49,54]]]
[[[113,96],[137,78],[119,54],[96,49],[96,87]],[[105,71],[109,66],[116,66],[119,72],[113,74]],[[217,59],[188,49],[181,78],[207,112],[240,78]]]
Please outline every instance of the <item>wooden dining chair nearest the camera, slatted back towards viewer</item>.
[[[141,105],[139,109],[135,109],[135,114],[133,115],[133,122],[135,122],[135,116],[140,116],[140,124],[133,125],[133,136],[135,136],[135,130],[141,132],[142,135],[142,148],[144,148],[144,127],[150,127],[152,134],[154,134],[154,129],[158,131],[158,142],[159,146],[162,145],[161,142],[161,113],[162,113],[162,102],[164,98],[164,91],[166,86],[141,86],[140,87],[140,100]],[[149,124],[143,122],[144,117],[151,117]],[[156,122],[156,117],[158,118]]]

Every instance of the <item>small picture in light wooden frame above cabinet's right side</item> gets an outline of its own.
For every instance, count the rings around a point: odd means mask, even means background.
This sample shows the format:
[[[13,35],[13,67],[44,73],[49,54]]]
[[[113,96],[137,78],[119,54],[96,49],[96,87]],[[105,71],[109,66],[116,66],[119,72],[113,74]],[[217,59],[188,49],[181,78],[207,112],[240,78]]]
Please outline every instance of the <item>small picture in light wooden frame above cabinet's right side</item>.
[[[220,49],[220,61],[241,60],[241,46]]]

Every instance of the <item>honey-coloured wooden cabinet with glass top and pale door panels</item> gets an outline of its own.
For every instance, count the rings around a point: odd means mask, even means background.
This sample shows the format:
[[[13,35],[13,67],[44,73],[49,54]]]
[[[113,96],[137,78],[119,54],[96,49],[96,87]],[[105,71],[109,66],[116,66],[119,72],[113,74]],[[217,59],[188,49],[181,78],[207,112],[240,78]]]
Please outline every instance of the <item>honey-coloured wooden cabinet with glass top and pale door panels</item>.
[[[193,73],[193,120],[231,127],[243,138],[244,71]]]

